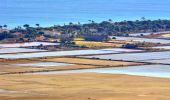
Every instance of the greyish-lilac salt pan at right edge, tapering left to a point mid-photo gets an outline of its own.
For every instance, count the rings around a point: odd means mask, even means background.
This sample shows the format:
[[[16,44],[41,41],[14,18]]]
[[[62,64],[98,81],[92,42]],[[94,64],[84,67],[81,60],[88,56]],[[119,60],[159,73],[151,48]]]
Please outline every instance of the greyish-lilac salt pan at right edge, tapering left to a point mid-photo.
[[[109,54],[109,55],[95,55],[95,56],[80,56],[83,58],[99,58],[111,60],[124,60],[124,61],[147,61],[169,59],[170,51],[164,52],[143,52],[143,53],[125,53],[125,54]]]

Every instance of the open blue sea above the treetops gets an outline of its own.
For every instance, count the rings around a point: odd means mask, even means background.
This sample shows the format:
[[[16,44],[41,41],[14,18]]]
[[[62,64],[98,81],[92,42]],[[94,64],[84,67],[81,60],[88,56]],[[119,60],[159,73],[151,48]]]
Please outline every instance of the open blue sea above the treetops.
[[[170,19],[170,0],[0,0],[0,25]]]

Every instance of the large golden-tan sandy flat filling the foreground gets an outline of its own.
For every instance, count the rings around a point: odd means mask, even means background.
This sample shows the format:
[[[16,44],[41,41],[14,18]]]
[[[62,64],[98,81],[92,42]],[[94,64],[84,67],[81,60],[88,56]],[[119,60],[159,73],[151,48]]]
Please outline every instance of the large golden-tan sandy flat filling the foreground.
[[[170,100],[169,83],[97,73],[1,75],[0,100]]]

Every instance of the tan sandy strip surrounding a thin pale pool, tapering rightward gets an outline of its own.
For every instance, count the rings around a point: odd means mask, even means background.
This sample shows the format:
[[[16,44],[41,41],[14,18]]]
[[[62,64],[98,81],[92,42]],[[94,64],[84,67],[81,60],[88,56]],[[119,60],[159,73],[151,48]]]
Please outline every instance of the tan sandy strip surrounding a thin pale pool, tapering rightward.
[[[31,67],[31,66],[14,66],[15,64],[29,64],[38,62],[62,62],[71,63],[72,66],[54,66],[54,67]],[[46,59],[21,59],[21,60],[0,60],[0,74],[32,73],[45,71],[61,71],[91,68],[108,68],[108,67],[126,67],[128,65],[140,65],[140,63],[93,60],[81,58],[46,58]]]

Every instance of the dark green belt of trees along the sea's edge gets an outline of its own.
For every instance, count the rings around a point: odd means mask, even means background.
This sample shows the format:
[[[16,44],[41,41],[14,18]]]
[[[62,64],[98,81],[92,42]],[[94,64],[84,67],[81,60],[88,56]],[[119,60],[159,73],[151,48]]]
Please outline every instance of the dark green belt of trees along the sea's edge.
[[[0,29],[7,28],[7,25],[0,25]],[[68,25],[54,25],[52,27],[41,27],[40,24],[36,24],[36,27],[31,27],[29,24],[25,24],[22,27],[18,26],[7,32],[2,32],[1,40],[4,38],[12,38],[15,32],[21,32],[24,38],[35,38],[37,35],[43,35],[41,30],[57,30],[61,34],[66,34],[71,37],[82,37],[84,35],[109,35],[109,36],[121,36],[128,35],[129,33],[145,33],[145,32],[159,32],[170,31],[170,20],[148,20],[142,18],[136,21],[120,21],[114,22],[111,19],[96,23],[89,20],[87,24],[81,24],[80,22],[74,24],[70,22]],[[48,36],[47,36],[48,37]]]

